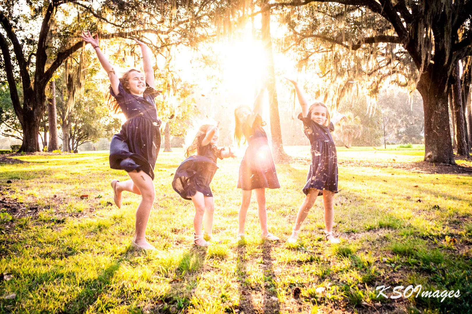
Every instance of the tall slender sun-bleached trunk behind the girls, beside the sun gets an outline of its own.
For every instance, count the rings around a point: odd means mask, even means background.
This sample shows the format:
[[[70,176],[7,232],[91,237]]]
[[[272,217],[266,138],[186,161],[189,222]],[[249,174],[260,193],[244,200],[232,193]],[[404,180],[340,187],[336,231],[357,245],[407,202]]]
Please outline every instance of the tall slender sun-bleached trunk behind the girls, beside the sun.
[[[270,9],[267,8],[269,0],[261,0],[261,37],[266,57],[266,77],[269,81],[267,89],[269,91],[269,114],[270,114],[270,134],[272,138],[272,154],[274,161],[286,161],[288,155],[282,146],[282,132],[280,130],[280,116],[278,114],[277,89],[275,85],[274,57],[272,55],[272,39],[270,37]]]

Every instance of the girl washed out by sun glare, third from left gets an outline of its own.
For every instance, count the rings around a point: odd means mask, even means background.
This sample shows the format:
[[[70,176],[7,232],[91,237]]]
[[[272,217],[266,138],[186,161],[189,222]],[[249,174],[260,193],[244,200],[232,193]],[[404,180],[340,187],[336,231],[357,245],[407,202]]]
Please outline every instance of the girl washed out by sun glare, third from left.
[[[257,198],[257,209],[259,223],[261,225],[261,238],[264,240],[278,241],[277,236],[269,233],[267,227],[267,212],[265,207],[265,189],[276,189],[278,183],[277,172],[270,147],[267,142],[267,135],[262,127],[262,97],[264,89],[261,89],[254,101],[253,109],[248,106],[239,106],[235,110],[235,139],[238,145],[244,136],[244,143],[248,142],[248,147],[244,153],[243,160],[239,167],[239,178],[237,187],[241,189],[242,200],[238,217],[238,241],[244,239],[244,224],[246,222],[247,209],[251,201],[251,194],[254,190]]]

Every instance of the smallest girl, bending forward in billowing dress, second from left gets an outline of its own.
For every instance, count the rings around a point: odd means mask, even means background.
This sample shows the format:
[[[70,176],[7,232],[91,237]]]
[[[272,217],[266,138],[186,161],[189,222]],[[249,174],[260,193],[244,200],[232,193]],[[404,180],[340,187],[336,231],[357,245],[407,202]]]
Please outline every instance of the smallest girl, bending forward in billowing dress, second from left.
[[[194,202],[194,244],[204,247],[208,246],[204,238],[211,240],[215,205],[210,183],[218,169],[216,161],[218,158],[234,157],[231,148],[226,151],[215,145],[218,141],[218,124],[204,124],[198,129],[194,141],[185,150],[187,159],[178,166],[172,181],[172,187],[182,198]],[[193,155],[195,151],[197,154]]]

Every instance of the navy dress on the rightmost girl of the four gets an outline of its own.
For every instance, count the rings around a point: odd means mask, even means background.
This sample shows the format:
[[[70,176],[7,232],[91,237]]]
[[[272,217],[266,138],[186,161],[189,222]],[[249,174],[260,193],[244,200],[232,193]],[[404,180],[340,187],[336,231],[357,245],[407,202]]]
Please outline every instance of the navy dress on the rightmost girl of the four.
[[[330,131],[334,131],[334,125],[329,122],[329,127],[324,127],[302,113],[298,119],[303,121],[303,132],[312,145],[312,164],[303,186],[303,193],[308,194],[308,189],[320,190],[318,195],[323,195],[323,190],[337,193],[337,155],[336,146]]]

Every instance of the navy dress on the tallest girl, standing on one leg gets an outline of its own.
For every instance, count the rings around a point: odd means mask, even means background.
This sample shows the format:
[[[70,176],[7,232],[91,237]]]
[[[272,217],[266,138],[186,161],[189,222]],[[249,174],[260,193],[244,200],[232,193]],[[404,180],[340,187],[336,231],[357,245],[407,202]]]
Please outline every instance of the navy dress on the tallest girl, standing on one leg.
[[[118,101],[126,117],[121,131],[111,138],[110,168],[126,172],[143,170],[154,180],[161,124],[157,118],[154,97],[159,92],[146,84],[143,97],[135,96],[127,93],[120,82],[118,95],[115,95],[111,86],[110,94]]]

